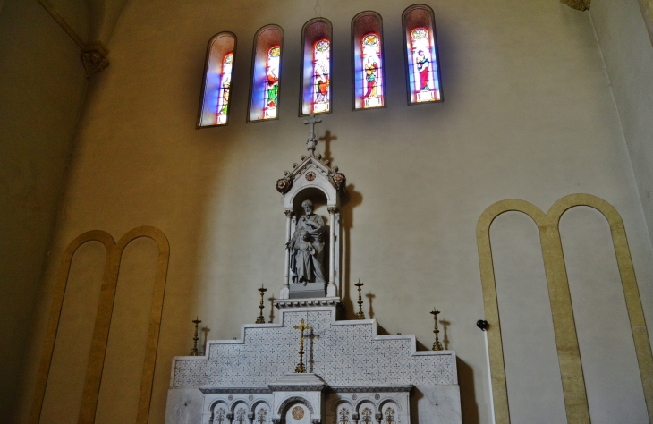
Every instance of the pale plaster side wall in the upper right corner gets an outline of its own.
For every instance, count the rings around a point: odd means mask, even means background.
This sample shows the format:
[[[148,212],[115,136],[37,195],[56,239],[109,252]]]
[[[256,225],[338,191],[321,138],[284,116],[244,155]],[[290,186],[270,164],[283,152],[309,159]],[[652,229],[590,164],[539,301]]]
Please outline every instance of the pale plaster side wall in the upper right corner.
[[[637,0],[594,0],[589,9],[653,240],[653,41]]]

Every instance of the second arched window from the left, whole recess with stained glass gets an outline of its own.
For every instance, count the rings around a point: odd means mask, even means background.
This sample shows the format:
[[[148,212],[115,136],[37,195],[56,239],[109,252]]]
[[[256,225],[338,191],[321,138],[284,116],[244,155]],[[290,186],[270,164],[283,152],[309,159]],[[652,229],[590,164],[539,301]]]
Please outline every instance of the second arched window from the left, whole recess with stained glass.
[[[278,119],[284,30],[266,25],[254,36],[248,122]]]

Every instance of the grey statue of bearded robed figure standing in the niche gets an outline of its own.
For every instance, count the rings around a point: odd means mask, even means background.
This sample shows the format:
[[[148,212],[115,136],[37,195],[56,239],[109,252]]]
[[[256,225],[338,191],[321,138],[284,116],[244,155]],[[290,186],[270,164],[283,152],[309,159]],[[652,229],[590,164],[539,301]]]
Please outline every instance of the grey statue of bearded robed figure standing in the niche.
[[[321,216],[313,213],[313,202],[301,202],[304,215],[286,249],[290,250],[290,268],[293,283],[324,283],[324,233],[326,226]]]

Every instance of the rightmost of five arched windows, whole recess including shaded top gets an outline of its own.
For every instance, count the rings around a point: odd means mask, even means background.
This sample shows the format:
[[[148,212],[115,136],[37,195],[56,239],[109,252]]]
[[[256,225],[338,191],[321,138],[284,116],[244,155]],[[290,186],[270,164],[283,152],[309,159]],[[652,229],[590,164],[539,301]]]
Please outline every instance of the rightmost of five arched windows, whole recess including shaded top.
[[[408,104],[442,101],[436,21],[433,9],[415,4],[403,11],[403,40],[408,78]]]

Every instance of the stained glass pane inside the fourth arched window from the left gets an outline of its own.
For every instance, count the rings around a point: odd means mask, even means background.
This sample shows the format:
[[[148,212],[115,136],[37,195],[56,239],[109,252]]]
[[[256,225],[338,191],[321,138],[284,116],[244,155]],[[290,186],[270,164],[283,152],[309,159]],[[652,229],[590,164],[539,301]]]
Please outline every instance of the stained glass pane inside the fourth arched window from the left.
[[[362,38],[360,59],[363,77],[363,107],[383,106],[383,80],[381,78],[381,42],[377,34]]]

